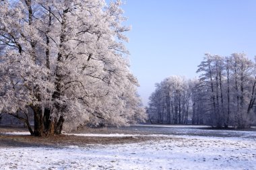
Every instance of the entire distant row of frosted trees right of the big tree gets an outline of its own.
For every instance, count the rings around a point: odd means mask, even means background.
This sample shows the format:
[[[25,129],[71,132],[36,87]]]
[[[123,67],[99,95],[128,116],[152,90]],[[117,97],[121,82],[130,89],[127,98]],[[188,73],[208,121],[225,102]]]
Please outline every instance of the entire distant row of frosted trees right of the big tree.
[[[199,79],[169,77],[156,84],[148,113],[153,122],[249,127],[255,121],[255,62],[245,54],[205,54]],[[171,121],[170,121],[171,118]]]

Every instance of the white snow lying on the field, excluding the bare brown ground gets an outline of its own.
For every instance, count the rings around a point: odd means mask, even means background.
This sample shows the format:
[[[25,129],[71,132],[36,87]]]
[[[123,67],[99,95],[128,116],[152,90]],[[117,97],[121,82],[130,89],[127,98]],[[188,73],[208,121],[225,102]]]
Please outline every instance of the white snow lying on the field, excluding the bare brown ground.
[[[241,136],[147,134],[156,139],[133,144],[90,144],[85,147],[0,148],[0,169],[256,169],[255,132],[230,131],[232,133]],[[164,139],[158,140],[158,136]]]

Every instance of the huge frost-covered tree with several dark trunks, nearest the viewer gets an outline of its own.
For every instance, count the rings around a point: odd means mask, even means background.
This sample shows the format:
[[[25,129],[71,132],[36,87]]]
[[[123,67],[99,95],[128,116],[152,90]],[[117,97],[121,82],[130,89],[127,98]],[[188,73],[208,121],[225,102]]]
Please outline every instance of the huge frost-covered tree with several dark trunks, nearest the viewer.
[[[31,134],[145,117],[124,57],[121,1],[0,2],[0,112]],[[34,130],[28,121],[34,114]]]

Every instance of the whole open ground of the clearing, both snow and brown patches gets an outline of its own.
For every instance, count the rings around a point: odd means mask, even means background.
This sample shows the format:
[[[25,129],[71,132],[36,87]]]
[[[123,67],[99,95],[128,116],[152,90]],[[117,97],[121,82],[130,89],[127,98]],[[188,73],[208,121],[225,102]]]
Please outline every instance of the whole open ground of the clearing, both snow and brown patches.
[[[189,127],[155,127],[152,133],[141,126],[93,130],[63,136],[63,143],[2,130],[0,142],[9,138],[12,145],[0,144],[0,169],[256,169],[255,131],[212,130],[214,136],[203,127],[190,127],[194,135],[166,128],[184,132]],[[30,146],[28,140],[39,144]]]

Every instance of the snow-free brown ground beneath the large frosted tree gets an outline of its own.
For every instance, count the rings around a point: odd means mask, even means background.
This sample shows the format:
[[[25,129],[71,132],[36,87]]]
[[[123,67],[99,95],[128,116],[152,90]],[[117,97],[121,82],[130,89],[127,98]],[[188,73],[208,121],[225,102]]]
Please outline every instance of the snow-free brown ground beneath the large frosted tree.
[[[36,137],[30,135],[7,135],[5,132],[28,132],[25,128],[11,128],[0,126],[0,147],[28,147],[28,146],[87,146],[88,144],[125,144],[133,142],[142,142],[153,140],[150,136],[123,136],[123,137],[99,137],[99,136],[74,136],[74,135],[56,135],[48,137]],[[118,130],[110,130],[107,128],[86,128],[79,130],[79,133],[120,133]]]

